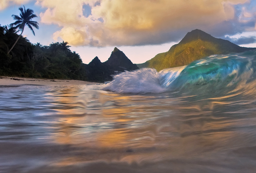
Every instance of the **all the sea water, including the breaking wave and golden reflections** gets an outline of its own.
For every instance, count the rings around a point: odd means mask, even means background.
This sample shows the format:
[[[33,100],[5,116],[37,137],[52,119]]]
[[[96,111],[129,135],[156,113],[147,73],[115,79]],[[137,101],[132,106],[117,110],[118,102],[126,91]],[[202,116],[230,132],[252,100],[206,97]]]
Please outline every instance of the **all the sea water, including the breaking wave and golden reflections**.
[[[101,85],[0,84],[1,173],[255,173],[256,52]]]

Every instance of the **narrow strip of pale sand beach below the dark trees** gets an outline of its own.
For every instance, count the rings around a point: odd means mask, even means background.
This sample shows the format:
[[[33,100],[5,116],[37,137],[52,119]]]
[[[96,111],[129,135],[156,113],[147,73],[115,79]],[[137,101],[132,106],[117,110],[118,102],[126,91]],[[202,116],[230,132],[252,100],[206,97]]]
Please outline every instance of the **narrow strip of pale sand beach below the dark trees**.
[[[34,79],[0,76],[0,85],[98,85],[101,83],[70,79]]]

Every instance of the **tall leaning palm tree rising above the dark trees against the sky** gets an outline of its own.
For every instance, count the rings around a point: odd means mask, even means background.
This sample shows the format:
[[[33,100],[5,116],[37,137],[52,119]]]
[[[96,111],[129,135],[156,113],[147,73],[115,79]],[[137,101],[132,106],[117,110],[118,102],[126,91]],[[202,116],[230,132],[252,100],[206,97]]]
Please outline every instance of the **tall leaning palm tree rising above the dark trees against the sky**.
[[[15,29],[18,29],[18,31],[21,31],[21,34],[24,31],[25,25],[28,26],[28,28],[30,28],[30,30],[32,31],[32,33],[34,34],[34,30],[32,28],[32,26],[36,29],[39,29],[38,27],[38,23],[36,21],[31,21],[32,18],[37,17],[37,15],[34,14],[34,11],[31,10],[30,8],[28,8],[26,10],[25,6],[24,10],[22,7],[19,8],[20,12],[20,17],[17,15],[12,15],[13,19],[16,20],[16,22],[11,23],[10,27],[14,27]],[[18,42],[18,39],[20,39],[21,34],[18,36],[17,40],[15,41],[14,45],[12,46],[12,48],[8,51],[7,54],[9,54],[11,52],[11,50],[14,48],[14,46],[16,45],[16,43]],[[35,35],[35,34],[34,34]]]

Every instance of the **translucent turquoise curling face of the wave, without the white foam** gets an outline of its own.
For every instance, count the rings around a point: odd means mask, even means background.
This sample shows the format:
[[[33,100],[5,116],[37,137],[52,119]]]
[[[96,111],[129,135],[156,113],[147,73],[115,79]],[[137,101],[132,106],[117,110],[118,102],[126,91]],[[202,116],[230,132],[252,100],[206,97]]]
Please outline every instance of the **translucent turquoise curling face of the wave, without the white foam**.
[[[181,71],[170,87],[181,88],[187,85],[231,82],[243,73],[253,70],[252,59],[242,54],[229,54],[196,60]]]

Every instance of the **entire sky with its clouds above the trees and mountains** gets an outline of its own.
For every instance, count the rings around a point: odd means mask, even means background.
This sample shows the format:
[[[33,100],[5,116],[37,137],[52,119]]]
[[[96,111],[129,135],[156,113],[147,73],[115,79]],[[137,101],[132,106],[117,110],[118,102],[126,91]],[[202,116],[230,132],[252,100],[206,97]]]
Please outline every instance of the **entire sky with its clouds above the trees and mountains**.
[[[114,47],[133,63],[166,52],[187,32],[201,29],[244,47],[256,47],[256,0],[0,0],[0,24],[15,22],[19,7],[34,10],[32,43],[68,42],[83,63],[105,62]]]

